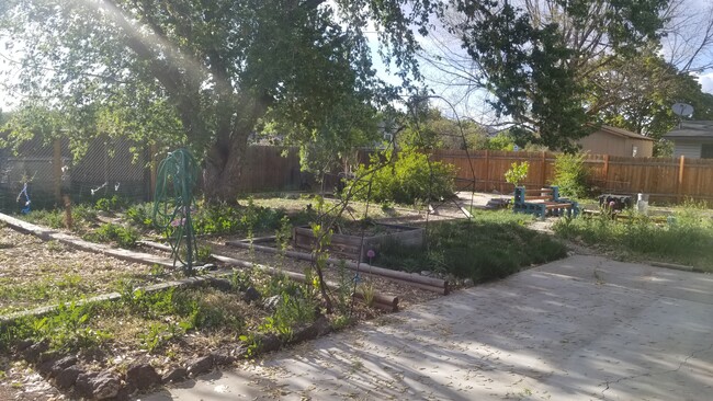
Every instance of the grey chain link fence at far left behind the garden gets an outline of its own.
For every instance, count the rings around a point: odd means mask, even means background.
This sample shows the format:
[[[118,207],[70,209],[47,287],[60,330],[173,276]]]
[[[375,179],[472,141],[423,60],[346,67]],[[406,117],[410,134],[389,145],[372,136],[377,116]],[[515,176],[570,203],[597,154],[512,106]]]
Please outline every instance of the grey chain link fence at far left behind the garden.
[[[52,208],[63,205],[64,196],[73,204],[113,196],[148,200],[150,157],[145,148],[125,139],[99,138],[79,160],[72,159],[67,140],[33,140],[18,154],[0,149],[0,211]]]

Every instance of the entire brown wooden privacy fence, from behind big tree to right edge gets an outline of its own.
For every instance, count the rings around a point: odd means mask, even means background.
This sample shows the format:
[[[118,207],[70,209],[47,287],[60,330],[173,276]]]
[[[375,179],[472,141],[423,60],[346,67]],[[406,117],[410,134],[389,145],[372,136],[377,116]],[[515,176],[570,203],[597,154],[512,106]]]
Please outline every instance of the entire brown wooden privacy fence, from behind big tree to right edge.
[[[287,157],[283,157],[286,151]],[[360,150],[359,160],[367,161],[372,150]],[[554,181],[557,153],[495,150],[434,150],[431,160],[454,164],[457,186],[480,192],[512,192],[505,172],[513,162],[528,161],[530,171],[524,185],[550,185]],[[713,200],[713,160],[684,158],[629,158],[587,154],[590,184],[602,193],[649,194],[652,199],[676,202],[684,198]],[[336,173],[327,176],[326,188],[336,185]],[[250,192],[299,190],[316,186],[309,174],[299,171],[295,148],[251,146],[240,180],[240,190]]]

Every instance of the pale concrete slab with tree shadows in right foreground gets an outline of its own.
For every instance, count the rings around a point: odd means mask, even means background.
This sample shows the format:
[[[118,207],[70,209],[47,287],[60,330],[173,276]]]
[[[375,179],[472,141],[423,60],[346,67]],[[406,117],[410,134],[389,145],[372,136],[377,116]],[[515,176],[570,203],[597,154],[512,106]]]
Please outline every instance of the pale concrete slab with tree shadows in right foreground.
[[[573,256],[142,398],[702,400],[713,276]]]

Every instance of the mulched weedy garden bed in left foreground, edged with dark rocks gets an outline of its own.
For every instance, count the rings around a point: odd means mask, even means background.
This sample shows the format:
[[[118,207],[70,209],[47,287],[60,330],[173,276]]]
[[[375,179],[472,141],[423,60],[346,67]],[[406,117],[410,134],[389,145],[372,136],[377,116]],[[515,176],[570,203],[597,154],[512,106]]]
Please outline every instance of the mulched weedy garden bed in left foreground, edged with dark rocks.
[[[47,238],[59,234],[68,240],[66,234],[32,229]],[[167,283],[149,290],[146,288],[150,286],[142,287],[170,278],[162,267],[114,261],[56,241],[42,241],[8,227],[2,227],[2,233],[3,261],[12,266],[12,272],[8,268],[2,272],[22,278],[7,287],[14,296],[12,302],[4,302],[14,306],[8,311],[68,302],[0,323],[3,386],[24,391],[26,399],[54,399],[61,394],[91,399],[106,393],[123,398],[136,389],[181,381],[216,365],[229,365],[283,344],[312,339],[328,332],[333,324],[341,326],[381,314],[354,303],[350,296],[354,289],[352,276],[342,276],[341,283],[346,285],[340,286],[339,294],[333,294],[335,313],[319,317],[318,310],[322,309],[318,308],[320,300],[314,286],[261,271],[238,270],[224,274],[223,278],[188,279],[185,285],[176,287]],[[4,252],[8,250],[16,252]],[[146,255],[167,256],[160,251],[152,253]],[[37,255],[46,255],[54,262],[77,259],[97,268],[81,264],[72,267],[79,278],[72,278],[71,285],[67,285],[67,278],[61,275],[66,270],[60,264],[53,270],[42,267],[43,264],[36,263]],[[103,260],[114,264],[101,263]],[[33,261],[36,268],[23,276],[22,265]],[[265,262],[278,266],[290,264],[279,259]],[[292,268],[304,272],[304,267]],[[25,299],[18,295],[34,294],[23,288],[32,288],[31,278],[36,280],[46,274],[60,277],[43,278],[52,283],[54,293],[34,302],[30,296]],[[91,283],[82,279],[86,276],[91,277]],[[333,272],[326,276],[327,279],[338,277]],[[382,285],[376,287],[383,290]],[[111,299],[88,299],[107,291],[118,294]],[[137,377],[150,380],[146,382]],[[47,386],[48,382],[56,388]]]

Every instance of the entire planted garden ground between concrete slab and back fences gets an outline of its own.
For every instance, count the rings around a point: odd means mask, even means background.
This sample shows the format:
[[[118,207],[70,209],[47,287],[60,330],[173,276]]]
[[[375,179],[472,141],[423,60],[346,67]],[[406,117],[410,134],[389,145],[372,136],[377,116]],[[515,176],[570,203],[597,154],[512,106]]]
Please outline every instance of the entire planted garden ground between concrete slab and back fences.
[[[3,381],[32,397],[121,399],[565,257],[567,244],[713,271],[713,220],[695,203],[646,215],[592,208],[546,218],[543,233],[540,219],[508,208],[431,215],[426,204],[304,193],[199,199],[190,272],[185,248],[170,247],[179,225],[157,229],[155,207],[114,196],[3,215]]]

